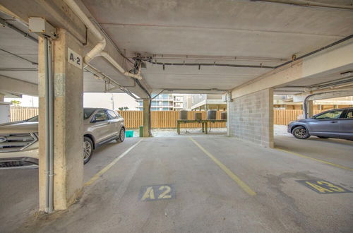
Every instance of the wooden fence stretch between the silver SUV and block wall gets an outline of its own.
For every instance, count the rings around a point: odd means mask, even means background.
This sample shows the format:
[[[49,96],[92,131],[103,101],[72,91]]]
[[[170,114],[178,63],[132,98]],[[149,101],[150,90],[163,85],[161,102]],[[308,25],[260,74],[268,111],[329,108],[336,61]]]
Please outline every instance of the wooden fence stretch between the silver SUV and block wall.
[[[192,111],[188,112],[188,119],[195,119],[194,114],[196,112],[201,112],[202,118],[206,119],[207,112],[205,111]],[[223,111],[217,111],[217,119],[221,119],[220,115]],[[128,129],[136,129],[142,126],[142,111],[119,111],[121,117],[125,119],[125,125]],[[152,111],[151,112],[151,124],[152,128],[156,129],[167,129],[167,128],[177,128],[177,119],[179,119],[178,111]],[[201,124],[198,123],[188,123],[182,124],[185,128],[198,128]],[[214,128],[225,128],[225,122],[217,122],[211,125]]]

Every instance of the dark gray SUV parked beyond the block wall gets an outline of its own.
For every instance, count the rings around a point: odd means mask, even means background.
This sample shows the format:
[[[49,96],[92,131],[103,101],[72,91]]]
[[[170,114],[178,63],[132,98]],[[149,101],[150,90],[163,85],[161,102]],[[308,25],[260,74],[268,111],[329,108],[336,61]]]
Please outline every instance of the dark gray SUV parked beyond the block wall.
[[[287,131],[299,139],[318,136],[319,138],[342,138],[353,141],[353,107],[333,109],[316,114],[309,119],[292,121]]]

